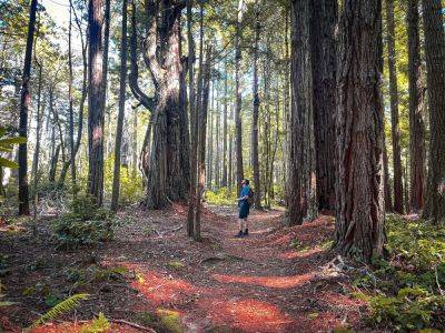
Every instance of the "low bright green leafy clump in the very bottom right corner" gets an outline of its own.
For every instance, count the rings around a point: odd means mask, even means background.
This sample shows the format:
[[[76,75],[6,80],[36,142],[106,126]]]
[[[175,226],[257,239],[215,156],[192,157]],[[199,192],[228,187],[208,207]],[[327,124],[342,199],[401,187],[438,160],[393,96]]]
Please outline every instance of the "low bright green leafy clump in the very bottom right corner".
[[[432,316],[445,305],[445,299],[432,295],[421,287],[400,289],[397,295],[377,295],[370,299],[372,321],[400,330],[428,326]]]

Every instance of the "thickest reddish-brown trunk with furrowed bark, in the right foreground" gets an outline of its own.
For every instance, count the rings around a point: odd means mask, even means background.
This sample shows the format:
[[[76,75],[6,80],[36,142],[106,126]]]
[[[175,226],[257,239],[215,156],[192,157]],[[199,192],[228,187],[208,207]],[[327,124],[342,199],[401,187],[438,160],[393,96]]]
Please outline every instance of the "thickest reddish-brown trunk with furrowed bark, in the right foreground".
[[[384,246],[382,2],[346,0],[339,21],[337,71],[336,246],[365,261]]]

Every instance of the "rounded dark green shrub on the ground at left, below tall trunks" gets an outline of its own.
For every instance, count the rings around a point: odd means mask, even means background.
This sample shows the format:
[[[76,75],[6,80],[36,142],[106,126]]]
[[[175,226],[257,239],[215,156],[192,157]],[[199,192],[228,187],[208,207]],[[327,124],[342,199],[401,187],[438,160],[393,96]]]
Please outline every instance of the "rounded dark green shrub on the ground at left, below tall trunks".
[[[99,208],[89,195],[79,195],[71,212],[56,219],[52,228],[61,246],[77,248],[111,240],[113,224],[109,210]]]

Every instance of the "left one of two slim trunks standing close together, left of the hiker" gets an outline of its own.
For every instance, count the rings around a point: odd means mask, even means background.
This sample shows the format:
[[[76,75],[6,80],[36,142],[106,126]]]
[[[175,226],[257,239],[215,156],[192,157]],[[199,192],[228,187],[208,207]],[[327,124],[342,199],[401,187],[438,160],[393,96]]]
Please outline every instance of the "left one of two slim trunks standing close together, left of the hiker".
[[[190,112],[190,189],[188,194],[188,214],[187,214],[187,235],[194,235],[195,222],[195,205],[197,202],[196,183],[197,183],[197,154],[198,144],[198,117],[197,103],[195,95],[195,41],[194,41],[194,16],[192,16],[194,0],[187,0],[187,39],[188,39],[188,91],[189,91],[189,112]],[[202,7],[201,7],[201,21],[202,21]],[[202,26],[201,26],[202,28]],[[200,29],[202,36],[202,29]],[[202,39],[201,39],[202,40]],[[202,48],[202,44],[201,44]]]

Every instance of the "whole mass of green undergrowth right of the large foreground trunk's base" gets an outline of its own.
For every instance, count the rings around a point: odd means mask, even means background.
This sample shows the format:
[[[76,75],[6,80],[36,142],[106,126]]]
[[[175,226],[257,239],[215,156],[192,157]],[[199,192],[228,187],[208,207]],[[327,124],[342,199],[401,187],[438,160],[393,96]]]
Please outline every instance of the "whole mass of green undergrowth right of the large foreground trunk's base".
[[[372,325],[399,332],[445,330],[445,226],[388,215],[386,260],[358,276]]]

